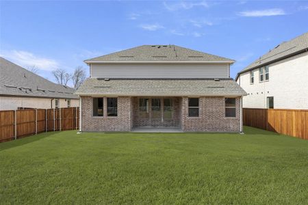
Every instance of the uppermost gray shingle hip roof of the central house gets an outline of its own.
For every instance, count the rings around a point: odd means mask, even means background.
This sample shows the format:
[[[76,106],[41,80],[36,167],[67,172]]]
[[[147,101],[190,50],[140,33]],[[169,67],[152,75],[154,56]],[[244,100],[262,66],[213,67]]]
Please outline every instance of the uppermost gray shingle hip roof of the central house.
[[[100,57],[94,57],[88,59],[86,63],[95,62],[144,62],[144,61],[212,61],[212,62],[227,62],[233,63],[234,60],[225,57],[220,57],[218,55],[211,55],[208,53],[203,53],[200,51],[194,51],[191,49],[186,49],[181,46],[175,45],[143,45],[137,46],[132,49],[127,49],[124,51],[119,51],[116,53],[111,53],[108,55],[103,55]]]

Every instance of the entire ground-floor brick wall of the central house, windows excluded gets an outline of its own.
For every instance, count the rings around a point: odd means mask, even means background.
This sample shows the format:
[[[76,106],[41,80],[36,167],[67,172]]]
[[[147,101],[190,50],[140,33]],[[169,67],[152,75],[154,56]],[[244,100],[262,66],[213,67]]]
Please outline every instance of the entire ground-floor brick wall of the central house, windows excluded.
[[[151,99],[151,98],[150,98]],[[150,100],[151,101],[151,100]],[[138,98],[118,97],[118,116],[109,117],[107,98],[104,116],[92,116],[92,97],[81,97],[81,131],[131,131],[135,126],[179,126],[183,131],[240,132],[240,97],[236,98],[236,117],[225,118],[224,97],[199,98],[199,117],[188,117],[188,98],[175,98],[173,121],[138,118]]]

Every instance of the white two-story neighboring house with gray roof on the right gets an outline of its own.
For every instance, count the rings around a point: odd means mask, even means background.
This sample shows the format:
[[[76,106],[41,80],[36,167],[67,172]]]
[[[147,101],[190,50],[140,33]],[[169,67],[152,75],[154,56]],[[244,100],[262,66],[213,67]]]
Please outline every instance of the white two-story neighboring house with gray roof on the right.
[[[238,73],[243,107],[308,109],[308,33],[283,42]]]

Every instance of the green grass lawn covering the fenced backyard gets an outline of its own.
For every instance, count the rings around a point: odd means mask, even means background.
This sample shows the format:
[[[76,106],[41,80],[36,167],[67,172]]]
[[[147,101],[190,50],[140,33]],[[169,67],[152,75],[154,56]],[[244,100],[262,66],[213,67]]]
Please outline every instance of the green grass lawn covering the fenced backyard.
[[[0,143],[0,204],[307,204],[308,141],[244,131]]]

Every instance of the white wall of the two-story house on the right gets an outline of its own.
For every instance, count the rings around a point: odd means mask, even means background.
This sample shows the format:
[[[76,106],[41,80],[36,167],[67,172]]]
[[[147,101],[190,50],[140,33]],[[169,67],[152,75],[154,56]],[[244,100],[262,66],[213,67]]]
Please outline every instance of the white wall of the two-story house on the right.
[[[274,97],[274,109],[308,109],[308,53],[283,59],[269,65],[269,81],[250,83],[250,72],[240,74],[238,83],[249,94],[243,98],[243,107],[267,108],[267,97]],[[264,76],[265,77],[265,76]]]

